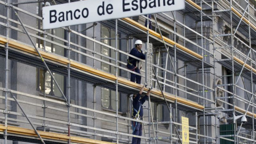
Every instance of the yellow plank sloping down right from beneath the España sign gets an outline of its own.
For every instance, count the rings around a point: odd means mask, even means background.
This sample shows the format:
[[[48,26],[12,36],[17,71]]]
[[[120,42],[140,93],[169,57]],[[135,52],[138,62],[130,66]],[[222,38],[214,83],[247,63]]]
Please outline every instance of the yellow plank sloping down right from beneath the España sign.
[[[161,35],[158,34],[158,33],[156,33],[154,30],[148,29],[147,27],[141,25],[140,23],[138,23],[138,22],[136,22],[136,21],[134,21],[134,20],[132,20],[132,19],[130,19],[130,18],[123,18],[123,20],[126,21],[126,22],[128,22],[128,23],[130,23],[130,24],[132,24],[133,26],[136,26],[136,27],[140,28],[141,30],[144,30],[144,31],[149,30],[149,34],[151,34],[151,35],[153,35],[153,36],[155,36],[155,37],[158,37],[158,38],[162,39]],[[169,43],[169,44],[171,44],[171,45],[175,45],[175,44],[176,44],[176,46],[177,46],[179,49],[181,49],[182,51],[185,51],[185,52],[187,52],[187,53],[189,53],[189,54],[191,54],[191,55],[194,55],[194,57],[196,57],[196,58],[198,58],[198,59],[203,59],[203,56],[202,56],[202,55],[200,55],[200,54],[198,54],[198,53],[196,53],[196,52],[194,52],[194,51],[189,50],[187,47],[182,46],[182,45],[179,44],[179,43],[175,43],[174,41],[172,41],[171,39],[169,39],[169,38],[167,38],[167,37],[165,37],[165,36],[163,36],[163,39],[164,39],[164,41],[165,41],[166,43]]]

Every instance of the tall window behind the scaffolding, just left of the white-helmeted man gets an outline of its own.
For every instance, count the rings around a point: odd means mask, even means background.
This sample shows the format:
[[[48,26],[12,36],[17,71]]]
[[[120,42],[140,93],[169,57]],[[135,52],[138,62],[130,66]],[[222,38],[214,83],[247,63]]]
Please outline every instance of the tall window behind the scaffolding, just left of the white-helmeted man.
[[[107,45],[115,47],[115,31],[113,29],[110,29],[105,26],[101,26],[101,42],[105,43]],[[119,41],[118,41],[118,47],[119,47]],[[117,47],[117,48],[118,48]],[[111,58],[115,59],[115,51],[112,49],[109,49],[106,46],[101,46],[101,54],[106,55],[106,57],[101,57],[102,60],[116,63],[114,60],[111,60]],[[108,63],[101,62],[101,69],[111,73],[116,73],[116,68],[114,66],[110,66]],[[118,71],[119,72],[119,71]],[[118,107],[116,107],[116,92],[113,90],[106,89],[104,87],[101,88],[101,104],[103,108],[107,108],[110,110],[120,110],[120,93],[118,92]]]

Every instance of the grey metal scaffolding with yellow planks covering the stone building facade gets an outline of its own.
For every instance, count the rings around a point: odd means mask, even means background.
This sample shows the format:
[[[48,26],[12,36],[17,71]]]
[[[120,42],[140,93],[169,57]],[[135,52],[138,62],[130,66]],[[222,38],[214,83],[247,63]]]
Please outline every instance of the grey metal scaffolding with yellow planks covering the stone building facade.
[[[152,19],[141,15],[42,30],[42,7],[67,2],[0,1],[5,143],[131,143],[132,121],[143,124],[143,135],[136,136],[142,143],[181,143],[181,116],[189,118],[189,143],[255,143],[254,1],[186,0],[185,10]],[[110,36],[102,35],[102,27]],[[136,39],[146,50],[152,46],[153,63],[129,54]],[[128,57],[150,64],[154,73],[127,69]],[[131,118],[130,95],[142,85],[130,82],[130,73],[145,83],[152,77],[143,121]],[[102,99],[105,90],[109,99]],[[102,108],[103,100],[111,109]]]

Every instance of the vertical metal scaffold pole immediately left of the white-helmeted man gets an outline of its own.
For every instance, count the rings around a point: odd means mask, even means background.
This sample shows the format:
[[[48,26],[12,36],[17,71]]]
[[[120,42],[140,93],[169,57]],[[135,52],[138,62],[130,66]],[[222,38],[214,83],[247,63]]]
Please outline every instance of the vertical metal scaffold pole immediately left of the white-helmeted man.
[[[116,77],[118,77],[118,43],[117,43],[117,37],[118,37],[118,27],[117,27],[117,19],[116,19]],[[116,143],[119,143],[119,129],[118,129],[118,78],[116,79]]]

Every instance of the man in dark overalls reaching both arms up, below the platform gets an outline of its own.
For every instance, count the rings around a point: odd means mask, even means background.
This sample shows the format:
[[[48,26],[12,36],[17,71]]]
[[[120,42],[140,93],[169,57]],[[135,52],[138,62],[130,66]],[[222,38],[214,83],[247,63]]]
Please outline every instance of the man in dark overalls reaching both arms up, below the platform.
[[[150,94],[150,89],[148,90],[147,94],[141,98],[141,94],[144,90],[144,85],[141,87],[140,92],[138,94],[133,94],[133,101],[132,101],[132,106],[133,106],[133,114],[132,117],[137,120],[143,120],[143,108],[142,105],[143,103],[148,99],[149,94]],[[134,122],[132,121],[132,134],[134,135],[142,135],[142,123],[140,122]],[[133,137],[132,138],[132,144],[140,144],[140,138]]]

